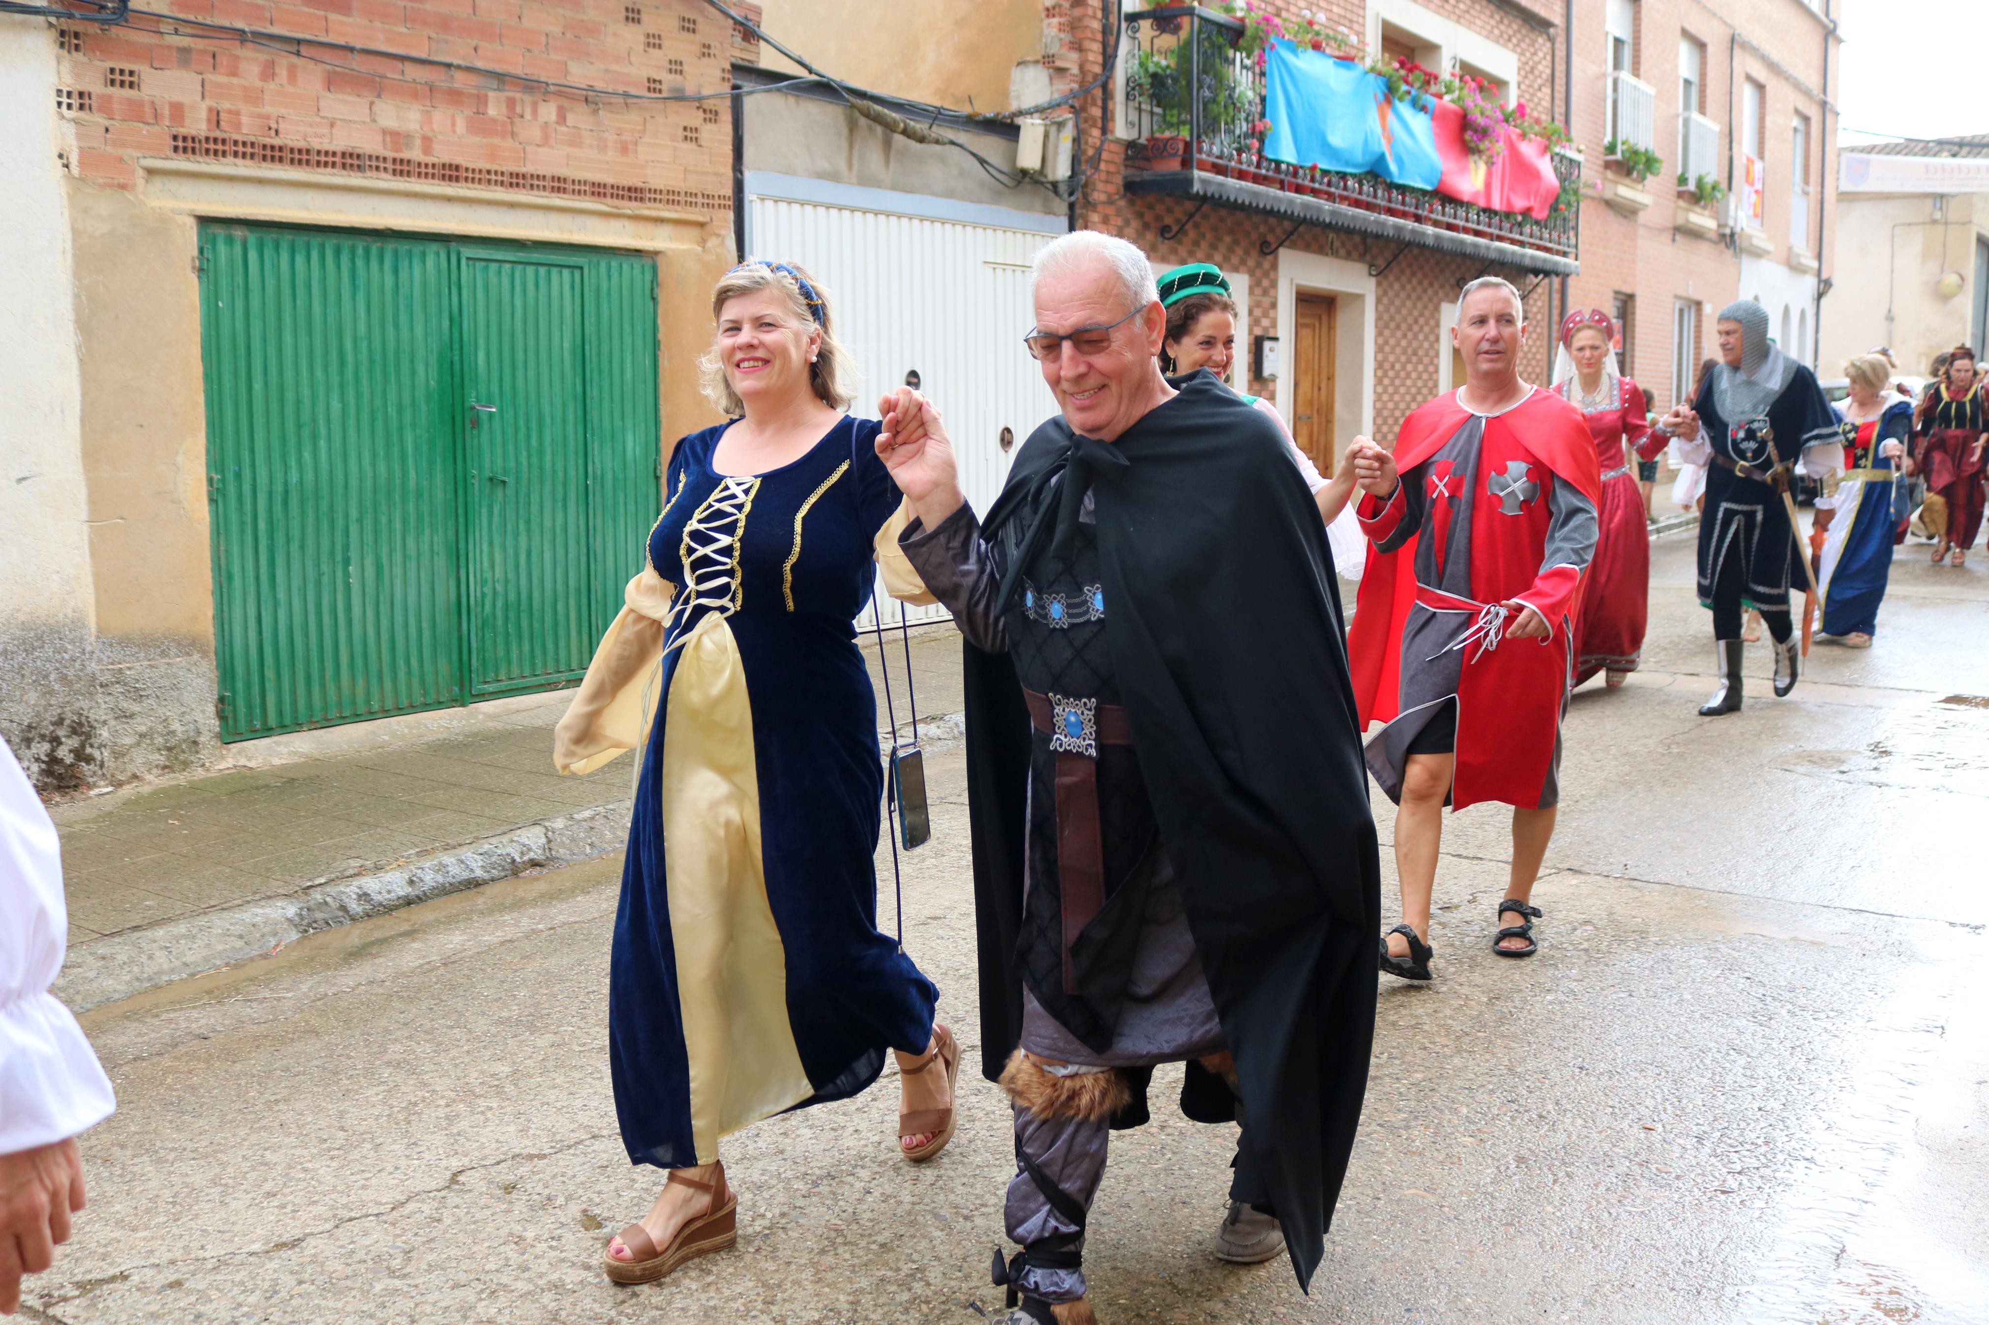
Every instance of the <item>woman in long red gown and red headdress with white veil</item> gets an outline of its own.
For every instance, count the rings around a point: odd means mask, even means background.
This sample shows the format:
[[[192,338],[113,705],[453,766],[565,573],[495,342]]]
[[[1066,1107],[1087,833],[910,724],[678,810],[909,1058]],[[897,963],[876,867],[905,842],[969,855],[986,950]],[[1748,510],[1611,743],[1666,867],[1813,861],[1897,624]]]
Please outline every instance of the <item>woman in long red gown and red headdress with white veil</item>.
[[[1631,453],[1657,459],[1671,441],[1651,427],[1643,389],[1617,371],[1615,320],[1599,308],[1571,312],[1561,322],[1555,389],[1589,421],[1603,465],[1595,560],[1581,600],[1581,640],[1575,646],[1575,685],[1609,671],[1615,689],[1637,669],[1651,598],[1651,530]]]

